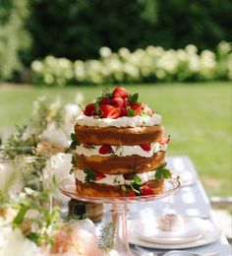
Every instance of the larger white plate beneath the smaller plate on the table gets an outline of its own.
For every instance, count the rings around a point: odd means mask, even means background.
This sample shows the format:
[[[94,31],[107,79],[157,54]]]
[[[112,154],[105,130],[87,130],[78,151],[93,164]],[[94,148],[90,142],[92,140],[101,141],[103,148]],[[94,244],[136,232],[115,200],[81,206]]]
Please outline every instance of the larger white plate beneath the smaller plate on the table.
[[[207,220],[200,219],[200,222],[202,222],[202,235],[200,235],[197,239],[194,239],[192,241],[184,240],[183,243],[181,243],[181,241],[179,241],[178,243],[175,243],[173,241],[169,243],[160,243],[160,241],[151,242],[151,241],[142,239],[142,237],[139,237],[136,234],[135,230],[136,229],[140,230],[140,221],[141,219],[135,219],[135,220],[129,221],[129,242],[131,244],[136,244],[136,245],[144,246],[147,248],[156,248],[156,249],[192,248],[192,247],[202,246],[202,245],[214,242],[217,239],[219,239],[222,234],[221,229],[217,225]]]

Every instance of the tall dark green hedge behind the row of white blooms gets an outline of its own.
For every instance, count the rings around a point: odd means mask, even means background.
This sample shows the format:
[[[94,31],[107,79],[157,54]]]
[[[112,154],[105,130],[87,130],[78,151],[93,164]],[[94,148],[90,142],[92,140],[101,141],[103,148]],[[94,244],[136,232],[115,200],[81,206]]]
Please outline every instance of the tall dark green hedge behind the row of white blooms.
[[[231,0],[30,0],[33,58],[71,60],[113,51],[160,45],[200,50],[232,41]]]

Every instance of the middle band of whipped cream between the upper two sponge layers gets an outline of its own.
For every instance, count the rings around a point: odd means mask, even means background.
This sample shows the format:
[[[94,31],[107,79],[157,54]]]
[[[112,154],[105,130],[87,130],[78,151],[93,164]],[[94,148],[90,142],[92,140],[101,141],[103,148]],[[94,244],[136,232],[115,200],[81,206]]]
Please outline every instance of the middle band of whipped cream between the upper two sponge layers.
[[[110,157],[112,155],[118,157],[127,157],[127,156],[141,156],[143,158],[151,158],[155,153],[159,151],[166,151],[167,145],[161,145],[158,142],[150,144],[150,151],[146,152],[142,149],[141,146],[111,146],[112,153],[110,154],[100,154],[99,149],[101,145],[90,145],[90,148],[85,148],[85,145],[77,146],[76,153],[78,155],[84,155],[86,157],[91,156],[100,156],[100,157]]]

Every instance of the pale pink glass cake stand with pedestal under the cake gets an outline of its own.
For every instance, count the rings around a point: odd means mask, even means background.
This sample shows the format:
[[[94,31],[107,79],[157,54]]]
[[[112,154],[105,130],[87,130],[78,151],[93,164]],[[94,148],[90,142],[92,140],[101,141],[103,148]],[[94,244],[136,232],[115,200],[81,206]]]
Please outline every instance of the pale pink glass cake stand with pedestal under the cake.
[[[164,181],[164,190],[162,193],[149,196],[138,197],[87,197],[78,194],[75,179],[65,178],[60,184],[60,191],[71,198],[87,201],[96,204],[111,204],[112,223],[115,227],[114,248],[113,250],[120,256],[134,255],[130,251],[127,230],[128,203],[149,202],[167,197],[178,190],[180,187],[179,178],[171,178]]]

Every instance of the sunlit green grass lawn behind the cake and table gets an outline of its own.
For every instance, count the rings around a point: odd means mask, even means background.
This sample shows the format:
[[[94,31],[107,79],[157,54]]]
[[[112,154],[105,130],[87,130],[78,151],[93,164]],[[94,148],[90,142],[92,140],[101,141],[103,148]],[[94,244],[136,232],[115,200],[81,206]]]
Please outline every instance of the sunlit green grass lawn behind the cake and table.
[[[112,88],[112,87],[109,87]],[[196,165],[210,196],[231,196],[232,101],[228,83],[157,84],[128,86],[131,93],[161,113],[166,134],[171,135],[168,155],[188,155]],[[32,101],[45,95],[73,101],[81,92],[86,101],[101,87],[35,88],[0,86],[0,133],[14,124],[25,124]]]

